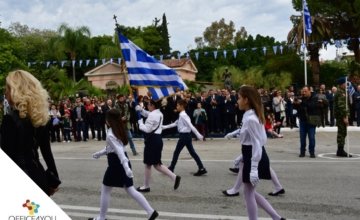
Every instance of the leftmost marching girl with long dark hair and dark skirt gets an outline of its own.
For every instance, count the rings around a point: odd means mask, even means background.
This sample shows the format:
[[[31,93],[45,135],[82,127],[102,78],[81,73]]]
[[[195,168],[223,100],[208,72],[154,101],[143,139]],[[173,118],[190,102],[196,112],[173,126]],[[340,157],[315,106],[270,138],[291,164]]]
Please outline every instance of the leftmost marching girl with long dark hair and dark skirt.
[[[145,197],[136,191],[133,186],[133,172],[131,164],[125,152],[128,138],[125,131],[120,111],[111,109],[106,113],[106,124],[109,130],[106,137],[106,147],[93,154],[98,159],[107,155],[108,168],[106,169],[100,198],[100,215],[89,220],[104,220],[110,203],[110,193],[113,187],[125,188],[125,191],[143,208],[148,214],[149,220],[156,219],[159,214],[154,210]]]

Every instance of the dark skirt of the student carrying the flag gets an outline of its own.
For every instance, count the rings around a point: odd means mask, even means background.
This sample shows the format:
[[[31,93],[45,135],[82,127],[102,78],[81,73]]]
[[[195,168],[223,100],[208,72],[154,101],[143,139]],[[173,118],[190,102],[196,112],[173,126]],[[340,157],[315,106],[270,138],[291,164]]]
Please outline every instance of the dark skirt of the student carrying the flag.
[[[144,164],[158,165],[161,162],[163,141],[161,134],[145,134]]]

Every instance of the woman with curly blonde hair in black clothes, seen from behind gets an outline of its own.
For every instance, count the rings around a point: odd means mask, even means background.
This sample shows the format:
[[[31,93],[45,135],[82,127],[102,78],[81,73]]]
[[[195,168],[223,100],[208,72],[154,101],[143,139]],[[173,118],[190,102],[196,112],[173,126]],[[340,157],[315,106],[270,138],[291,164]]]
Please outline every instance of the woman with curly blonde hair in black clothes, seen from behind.
[[[52,195],[61,182],[50,148],[48,93],[33,75],[16,70],[6,77],[5,97],[11,111],[1,124],[1,148],[47,195]],[[39,147],[47,171],[40,163]]]

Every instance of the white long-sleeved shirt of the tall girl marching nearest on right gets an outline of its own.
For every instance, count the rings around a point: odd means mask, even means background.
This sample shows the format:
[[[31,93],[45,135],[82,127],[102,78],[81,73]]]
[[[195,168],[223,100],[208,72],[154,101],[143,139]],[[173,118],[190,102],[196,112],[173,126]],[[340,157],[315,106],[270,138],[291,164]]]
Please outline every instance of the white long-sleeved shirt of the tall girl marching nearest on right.
[[[240,130],[240,143],[252,146],[251,161],[259,162],[262,154],[262,146],[266,144],[266,132],[263,124],[253,109],[247,110],[242,119]]]

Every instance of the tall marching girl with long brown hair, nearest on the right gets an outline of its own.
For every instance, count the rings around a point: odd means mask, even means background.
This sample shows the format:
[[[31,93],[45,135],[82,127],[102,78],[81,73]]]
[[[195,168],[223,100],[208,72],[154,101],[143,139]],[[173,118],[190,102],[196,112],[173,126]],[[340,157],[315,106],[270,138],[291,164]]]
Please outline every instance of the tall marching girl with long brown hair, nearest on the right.
[[[240,129],[240,144],[244,161],[242,181],[249,219],[258,218],[258,205],[272,219],[284,219],[255,189],[260,179],[271,179],[269,158],[263,150],[267,137],[264,109],[258,91],[251,86],[240,87],[238,106],[241,110],[245,110]]]

